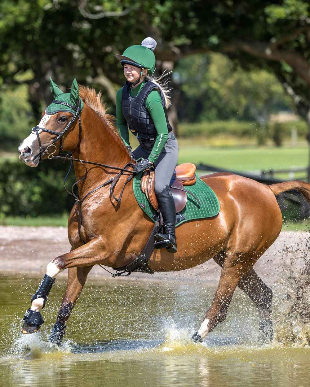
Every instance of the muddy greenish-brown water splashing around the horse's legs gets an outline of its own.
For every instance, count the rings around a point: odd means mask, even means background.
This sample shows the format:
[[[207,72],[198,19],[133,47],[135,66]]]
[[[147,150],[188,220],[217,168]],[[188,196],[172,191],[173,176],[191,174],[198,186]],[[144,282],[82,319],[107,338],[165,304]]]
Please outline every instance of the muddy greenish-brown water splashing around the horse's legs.
[[[226,321],[203,344],[195,345],[190,336],[212,301],[213,285],[90,278],[64,343],[52,350],[47,336],[64,279],[50,293],[40,332],[19,334],[21,317],[39,281],[0,275],[1,386],[310,384],[310,349],[298,342],[265,342],[258,332],[257,312],[241,292],[236,291]]]

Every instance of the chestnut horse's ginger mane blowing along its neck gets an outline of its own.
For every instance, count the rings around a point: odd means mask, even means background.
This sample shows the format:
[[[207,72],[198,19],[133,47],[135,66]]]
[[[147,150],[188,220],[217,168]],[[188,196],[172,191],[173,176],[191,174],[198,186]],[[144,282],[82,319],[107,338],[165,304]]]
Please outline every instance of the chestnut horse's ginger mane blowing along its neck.
[[[108,108],[105,108],[105,103],[103,103],[102,101],[101,91],[96,93],[96,90],[93,88],[79,85],[79,94],[82,101],[88,104],[88,106],[90,106],[90,108],[92,108],[93,111],[95,111],[95,113],[97,113],[98,116],[102,118],[102,120],[107,124],[107,126],[112,129],[112,135],[117,138],[118,142],[121,142],[121,144],[128,152],[128,149],[122,141],[121,136],[119,135],[119,132],[115,126],[115,117],[112,116],[112,114],[107,114]]]

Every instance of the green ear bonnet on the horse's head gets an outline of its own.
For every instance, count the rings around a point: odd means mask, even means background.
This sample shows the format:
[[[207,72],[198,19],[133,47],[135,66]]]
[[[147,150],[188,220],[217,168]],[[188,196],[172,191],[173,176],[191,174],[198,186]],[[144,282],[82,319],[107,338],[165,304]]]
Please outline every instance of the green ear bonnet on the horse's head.
[[[69,113],[72,113],[72,115],[76,114],[76,110],[72,108],[70,105],[75,106],[76,108],[79,106],[79,85],[77,84],[76,78],[74,78],[71,86],[71,91],[69,93],[62,92],[57,84],[52,80],[50,77],[50,89],[54,96],[54,101],[48,105],[48,107],[45,110],[45,113],[47,114],[56,114],[59,111],[68,111]],[[60,101],[65,104],[60,104],[55,101]],[[80,109],[82,111],[84,106],[83,101],[81,100],[81,106]]]

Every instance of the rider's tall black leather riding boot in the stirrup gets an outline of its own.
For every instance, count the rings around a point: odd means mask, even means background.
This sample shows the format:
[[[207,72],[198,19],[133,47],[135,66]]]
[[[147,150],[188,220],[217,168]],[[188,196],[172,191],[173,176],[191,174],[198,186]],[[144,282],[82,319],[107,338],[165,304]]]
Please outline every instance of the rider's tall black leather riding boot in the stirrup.
[[[176,244],[176,205],[170,191],[169,185],[159,194],[156,194],[158,207],[162,213],[164,226],[154,235],[155,248],[167,248],[169,253],[177,252]]]

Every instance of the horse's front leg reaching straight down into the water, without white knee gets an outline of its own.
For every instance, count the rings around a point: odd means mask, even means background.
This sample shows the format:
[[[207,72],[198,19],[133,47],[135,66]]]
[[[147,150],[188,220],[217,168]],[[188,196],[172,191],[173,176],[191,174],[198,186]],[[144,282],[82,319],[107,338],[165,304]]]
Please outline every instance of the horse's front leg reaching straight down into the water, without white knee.
[[[58,346],[61,344],[65,334],[65,324],[72,313],[73,307],[81,294],[87,275],[92,267],[69,267],[67,289],[48,341]]]

